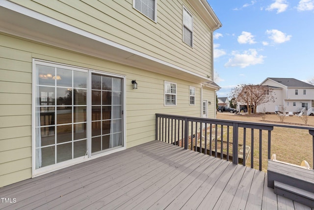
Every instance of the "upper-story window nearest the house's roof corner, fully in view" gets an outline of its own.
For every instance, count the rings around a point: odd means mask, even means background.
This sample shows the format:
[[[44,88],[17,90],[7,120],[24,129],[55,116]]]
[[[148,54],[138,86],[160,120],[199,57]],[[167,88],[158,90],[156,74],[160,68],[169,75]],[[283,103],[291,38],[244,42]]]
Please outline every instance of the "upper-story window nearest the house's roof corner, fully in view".
[[[183,6],[183,42],[193,46],[193,16]]]

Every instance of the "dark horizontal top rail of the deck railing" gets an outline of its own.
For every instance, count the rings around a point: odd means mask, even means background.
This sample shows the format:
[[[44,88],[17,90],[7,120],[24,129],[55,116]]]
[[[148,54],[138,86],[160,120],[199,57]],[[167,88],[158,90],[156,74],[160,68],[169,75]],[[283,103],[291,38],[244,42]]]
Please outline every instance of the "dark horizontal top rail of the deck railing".
[[[187,119],[189,121],[197,121],[204,123],[216,123],[222,125],[232,125],[233,123],[238,123],[239,127],[247,127],[247,128],[256,128],[256,129],[264,129],[264,130],[272,130],[275,127],[284,127],[284,128],[295,128],[295,129],[305,129],[305,130],[313,130],[313,126],[298,126],[298,125],[285,125],[285,124],[270,124],[263,122],[250,122],[250,121],[238,121],[238,120],[222,120],[222,119],[210,119],[210,118],[197,118],[197,117],[183,117],[178,115],[169,115],[169,114],[156,114],[156,117],[161,118],[173,118],[177,120]]]

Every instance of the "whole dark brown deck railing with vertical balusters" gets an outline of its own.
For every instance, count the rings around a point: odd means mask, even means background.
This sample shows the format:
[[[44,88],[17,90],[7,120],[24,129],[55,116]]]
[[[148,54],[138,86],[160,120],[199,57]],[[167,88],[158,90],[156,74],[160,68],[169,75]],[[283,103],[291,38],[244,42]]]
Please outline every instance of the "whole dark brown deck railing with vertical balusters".
[[[314,127],[156,114],[156,140],[178,145],[186,150],[195,150],[215,157],[220,156],[221,159],[225,158],[228,161],[232,159],[234,164],[239,163],[239,139],[243,135],[243,141],[241,140],[242,164],[246,165],[248,153],[250,153],[251,168],[258,168],[260,171],[262,170],[262,138],[263,135],[267,137],[267,158],[270,159],[271,131],[274,127],[309,130],[313,138],[312,155],[314,162]],[[239,138],[240,128],[243,130],[241,130],[241,137]],[[246,137],[247,129],[248,131],[251,130],[249,140]],[[255,130],[259,133],[258,154],[254,152]],[[231,145],[232,148],[230,148]],[[246,151],[247,145],[250,145],[251,152]],[[258,155],[257,167],[254,166],[255,155]]]

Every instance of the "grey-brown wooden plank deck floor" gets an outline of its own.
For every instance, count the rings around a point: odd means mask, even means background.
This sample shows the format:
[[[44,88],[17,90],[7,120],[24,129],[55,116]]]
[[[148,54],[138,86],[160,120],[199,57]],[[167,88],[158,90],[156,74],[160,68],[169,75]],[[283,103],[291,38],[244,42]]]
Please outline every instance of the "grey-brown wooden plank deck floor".
[[[273,193],[264,172],[150,142],[0,188],[0,209],[310,210]]]

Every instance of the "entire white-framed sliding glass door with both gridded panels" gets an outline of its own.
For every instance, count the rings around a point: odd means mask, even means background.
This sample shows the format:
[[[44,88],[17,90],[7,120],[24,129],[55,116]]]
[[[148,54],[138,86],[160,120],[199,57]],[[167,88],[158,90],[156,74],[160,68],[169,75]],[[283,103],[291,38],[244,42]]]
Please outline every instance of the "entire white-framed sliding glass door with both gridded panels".
[[[34,66],[35,171],[124,147],[124,77],[44,61]]]

